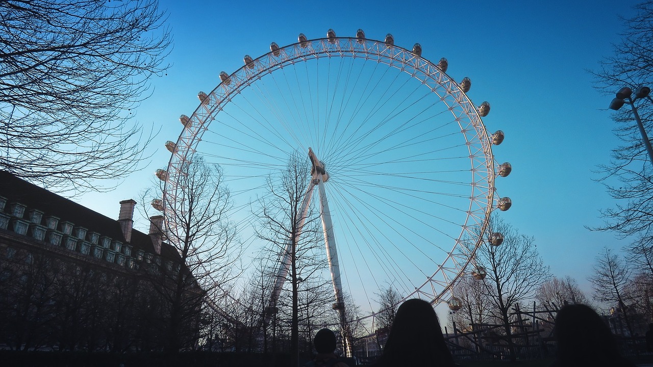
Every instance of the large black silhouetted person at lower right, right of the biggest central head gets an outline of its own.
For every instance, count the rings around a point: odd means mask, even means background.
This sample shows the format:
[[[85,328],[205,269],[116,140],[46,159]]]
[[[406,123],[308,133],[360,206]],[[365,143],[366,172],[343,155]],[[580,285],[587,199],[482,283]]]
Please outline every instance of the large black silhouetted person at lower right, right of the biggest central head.
[[[569,304],[558,311],[553,336],[558,342],[554,367],[635,367],[619,352],[608,325],[584,304]]]

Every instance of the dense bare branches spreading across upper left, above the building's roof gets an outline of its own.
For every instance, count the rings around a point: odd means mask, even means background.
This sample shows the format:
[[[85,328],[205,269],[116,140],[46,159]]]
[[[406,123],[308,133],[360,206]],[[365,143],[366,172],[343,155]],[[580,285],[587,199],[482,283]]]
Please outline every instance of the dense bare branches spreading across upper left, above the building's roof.
[[[0,169],[47,186],[135,170],[131,110],[167,69],[157,0],[0,1]]]

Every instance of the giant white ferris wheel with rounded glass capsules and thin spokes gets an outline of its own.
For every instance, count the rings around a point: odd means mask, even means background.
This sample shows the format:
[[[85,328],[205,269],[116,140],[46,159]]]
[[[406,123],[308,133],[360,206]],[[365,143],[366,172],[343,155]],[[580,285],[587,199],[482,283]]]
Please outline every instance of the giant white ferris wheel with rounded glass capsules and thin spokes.
[[[181,116],[182,133],[166,144],[168,167],[157,170],[166,181],[157,206],[180,210],[179,178],[201,155],[221,166],[238,233],[255,252],[264,245],[253,235],[252,203],[301,152],[311,167],[302,208],[314,206],[322,219],[334,309],[347,291],[374,315],[375,291],[390,284],[402,300],[456,310],[454,283],[485,276],[477,248],[503,240],[488,233],[488,221],[511,206],[494,187],[511,165],[494,160],[503,132],[486,131],[490,104],[473,104],[471,80],[456,82],[447,67],[447,59],[422,57],[419,44],[409,50],[360,29],[355,37],[329,29],[324,38],[272,42],[270,52],[220,72],[195,112]],[[275,289],[285,272],[282,256]]]

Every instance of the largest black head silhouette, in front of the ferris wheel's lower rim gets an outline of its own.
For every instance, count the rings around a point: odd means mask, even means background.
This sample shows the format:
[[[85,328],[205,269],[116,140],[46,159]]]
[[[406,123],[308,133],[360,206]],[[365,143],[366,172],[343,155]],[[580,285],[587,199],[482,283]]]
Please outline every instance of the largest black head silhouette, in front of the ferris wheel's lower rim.
[[[397,310],[377,366],[454,366],[430,303],[407,300]]]

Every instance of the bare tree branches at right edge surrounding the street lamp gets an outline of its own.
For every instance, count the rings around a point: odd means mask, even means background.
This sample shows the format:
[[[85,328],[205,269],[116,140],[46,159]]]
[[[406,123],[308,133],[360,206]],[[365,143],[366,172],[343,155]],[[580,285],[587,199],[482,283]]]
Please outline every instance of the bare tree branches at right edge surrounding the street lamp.
[[[623,19],[626,30],[622,40],[614,44],[614,54],[592,71],[596,88],[607,95],[623,87],[637,89],[653,78],[653,1],[635,5],[636,14]],[[639,99],[637,108],[646,131],[653,128],[653,100]],[[607,106],[606,101],[606,106]],[[614,231],[623,238],[633,236],[633,246],[650,251],[653,238],[653,178],[652,167],[631,108],[614,112],[617,123],[614,133],[622,144],[613,149],[612,159],[600,167],[600,180],[608,193],[618,202],[613,208],[602,211],[605,224],[594,228]],[[613,183],[614,178],[618,183]]]

